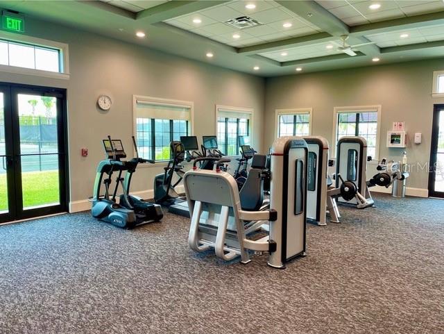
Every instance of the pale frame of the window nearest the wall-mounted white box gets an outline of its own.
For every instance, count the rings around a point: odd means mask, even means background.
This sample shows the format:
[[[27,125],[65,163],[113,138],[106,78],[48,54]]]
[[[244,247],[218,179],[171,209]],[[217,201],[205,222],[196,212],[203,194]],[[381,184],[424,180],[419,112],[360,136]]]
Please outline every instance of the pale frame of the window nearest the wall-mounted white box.
[[[344,113],[356,113],[356,112],[377,112],[377,125],[376,125],[376,150],[373,163],[377,163],[379,160],[379,138],[381,137],[381,105],[375,106],[345,106],[334,107],[333,110],[333,141],[332,141],[332,158],[336,159],[336,144],[338,142],[338,117],[339,114]]]

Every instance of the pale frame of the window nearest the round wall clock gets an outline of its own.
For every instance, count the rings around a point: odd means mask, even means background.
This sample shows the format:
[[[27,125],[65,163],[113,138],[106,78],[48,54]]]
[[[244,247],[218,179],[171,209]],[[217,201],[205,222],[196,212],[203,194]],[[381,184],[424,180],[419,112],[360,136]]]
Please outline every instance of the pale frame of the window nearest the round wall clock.
[[[183,108],[189,108],[189,121],[188,121],[188,135],[194,135],[194,102],[193,101],[182,101],[182,100],[175,100],[175,99],[164,99],[162,97],[146,97],[144,95],[133,95],[133,135],[137,140],[137,101],[145,101],[147,103],[153,103],[153,104],[163,104],[166,106],[177,106],[177,107],[183,107]],[[133,149],[133,154],[136,156],[136,152]],[[156,161],[155,164],[140,164],[137,166],[137,168],[144,168],[144,167],[159,167],[159,166],[166,166],[168,164],[168,161],[159,160]]]

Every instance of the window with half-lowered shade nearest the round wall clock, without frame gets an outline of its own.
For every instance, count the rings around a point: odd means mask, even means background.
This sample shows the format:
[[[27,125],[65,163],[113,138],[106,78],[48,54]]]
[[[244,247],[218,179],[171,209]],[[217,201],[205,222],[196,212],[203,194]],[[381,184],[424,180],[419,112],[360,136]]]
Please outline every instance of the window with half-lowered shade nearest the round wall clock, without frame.
[[[169,160],[170,142],[191,133],[191,110],[191,102],[135,97],[135,137],[139,156]]]

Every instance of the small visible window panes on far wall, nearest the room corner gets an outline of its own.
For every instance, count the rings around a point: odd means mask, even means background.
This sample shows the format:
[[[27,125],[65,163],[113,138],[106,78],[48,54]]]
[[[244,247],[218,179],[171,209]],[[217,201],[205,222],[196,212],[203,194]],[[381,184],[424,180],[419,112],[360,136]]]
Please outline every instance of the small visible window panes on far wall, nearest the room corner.
[[[311,132],[310,117],[311,109],[276,110],[277,136],[309,135]]]

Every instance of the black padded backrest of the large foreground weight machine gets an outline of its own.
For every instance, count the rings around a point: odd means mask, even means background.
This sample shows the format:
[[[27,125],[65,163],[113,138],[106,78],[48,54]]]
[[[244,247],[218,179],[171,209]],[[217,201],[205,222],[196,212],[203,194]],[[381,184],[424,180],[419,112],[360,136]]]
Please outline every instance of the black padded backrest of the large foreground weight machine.
[[[242,210],[257,211],[264,201],[264,181],[262,169],[251,168],[248,177],[239,192]]]

